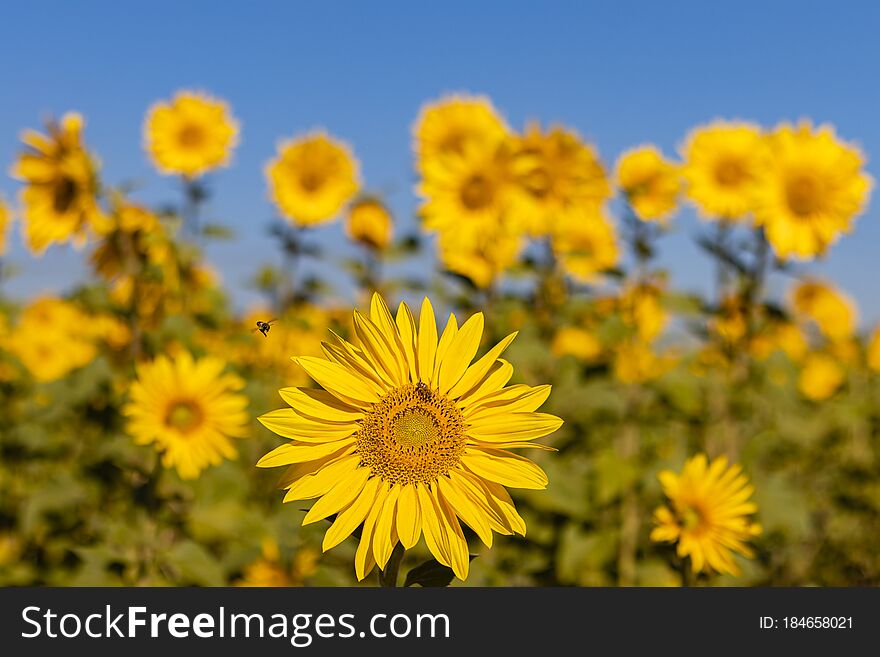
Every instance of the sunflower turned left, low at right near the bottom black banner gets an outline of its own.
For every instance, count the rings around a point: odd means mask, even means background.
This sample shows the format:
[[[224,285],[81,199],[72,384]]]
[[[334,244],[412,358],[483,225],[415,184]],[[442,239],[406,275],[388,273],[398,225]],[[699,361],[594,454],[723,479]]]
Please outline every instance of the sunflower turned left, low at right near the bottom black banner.
[[[749,498],[754,486],[739,465],[728,467],[719,456],[709,463],[705,454],[688,459],[680,474],[659,475],[668,506],[654,511],[651,540],[677,543],[679,557],[690,557],[695,573],[739,575],[734,553],[754,556],[748,542],[761,533],[749,518],[758,507]]]

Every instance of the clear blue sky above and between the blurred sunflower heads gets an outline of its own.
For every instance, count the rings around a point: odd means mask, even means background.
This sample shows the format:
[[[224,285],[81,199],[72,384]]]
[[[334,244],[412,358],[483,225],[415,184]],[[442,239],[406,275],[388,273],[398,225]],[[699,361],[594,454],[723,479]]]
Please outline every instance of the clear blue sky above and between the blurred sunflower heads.
[[[674,153],[694,125],[809,117],[859,143],[880,178],[880,5],[873,2],[17,2],[0,19],[0,162],[21,128],[67,109],[110,183],[172,199],[172,179],[140,148],[154,100],[180,88],[226,98],[242,123],[234,165],[214,178],[211,216],[239,239],[210,257],[239,303],[272,216],[262,168],[280,137],[324,126],[351,143],[368,186],[391,190],[411,224],[410,126],[420,105],[455,90],[490,95],[517,128],[530,118],[580,131],[607,163],[653,141]],[[870,158],[876,158],[872,160]],[[16,184],[0,179],[11,198]],[[817,272],[880,320],[878,202]],[[662,244],[677,284],[705,289],[709,266],[686,213]],[[338,226],[323,231],[328,243]],[[81,256],[40,261],[16,247],[15,295],[63,290]]]

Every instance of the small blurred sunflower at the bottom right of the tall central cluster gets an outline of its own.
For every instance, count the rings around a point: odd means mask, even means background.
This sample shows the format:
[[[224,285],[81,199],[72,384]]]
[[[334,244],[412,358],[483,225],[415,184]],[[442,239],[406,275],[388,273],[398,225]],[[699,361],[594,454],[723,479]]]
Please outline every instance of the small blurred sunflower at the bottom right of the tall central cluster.
[[[598,209],[584,210],[567,213],[555,227],[551,245],[568,274],[591,283],[617,265],[620,249],[614,224]]]

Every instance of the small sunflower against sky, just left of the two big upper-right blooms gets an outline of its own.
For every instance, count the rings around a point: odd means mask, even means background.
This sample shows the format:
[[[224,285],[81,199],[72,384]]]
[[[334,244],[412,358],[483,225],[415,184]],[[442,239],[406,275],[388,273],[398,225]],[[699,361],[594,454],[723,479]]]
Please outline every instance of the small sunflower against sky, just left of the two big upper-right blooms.
[[[626,151],[617,160],[615,178],[642,221],[665,223],[678,204],[680,167],[665,160],[656,146]]]

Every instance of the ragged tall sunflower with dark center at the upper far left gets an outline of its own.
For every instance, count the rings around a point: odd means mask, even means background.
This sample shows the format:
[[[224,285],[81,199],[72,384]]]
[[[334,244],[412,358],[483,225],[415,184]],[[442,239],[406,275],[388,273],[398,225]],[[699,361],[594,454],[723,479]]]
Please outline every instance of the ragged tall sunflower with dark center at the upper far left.
[[[50,244],[85,243],[88,229],[106,222],[98,206],[98,168],[83,145],[83,119],[68,113],[50,121],[48,135],[26,130],[28,147],[10,174],[26,183],[21,191],[22,220],[28,247],[41,254]]]

